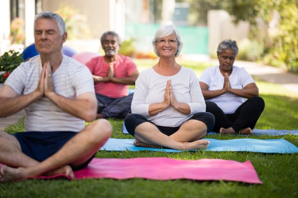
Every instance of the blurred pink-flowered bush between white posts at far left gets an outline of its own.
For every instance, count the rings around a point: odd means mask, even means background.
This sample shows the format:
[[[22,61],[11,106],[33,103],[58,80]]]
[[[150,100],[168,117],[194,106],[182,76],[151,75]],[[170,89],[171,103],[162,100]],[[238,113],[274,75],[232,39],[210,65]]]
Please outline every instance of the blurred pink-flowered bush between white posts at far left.
[[[9,39],[11,44],[23,44],[25,40],[25,33],[23,31],[24,21],[16,17],[10,24]]]

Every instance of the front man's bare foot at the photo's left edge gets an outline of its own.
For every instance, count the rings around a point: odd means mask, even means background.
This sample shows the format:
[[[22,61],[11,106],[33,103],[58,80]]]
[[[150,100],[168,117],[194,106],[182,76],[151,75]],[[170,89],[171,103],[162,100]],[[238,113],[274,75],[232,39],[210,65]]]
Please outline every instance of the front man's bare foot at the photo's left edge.
[[[10,182],[24,179],[24,168],[11,168],[8,166],[2,166],[0,168],[0,182]]]

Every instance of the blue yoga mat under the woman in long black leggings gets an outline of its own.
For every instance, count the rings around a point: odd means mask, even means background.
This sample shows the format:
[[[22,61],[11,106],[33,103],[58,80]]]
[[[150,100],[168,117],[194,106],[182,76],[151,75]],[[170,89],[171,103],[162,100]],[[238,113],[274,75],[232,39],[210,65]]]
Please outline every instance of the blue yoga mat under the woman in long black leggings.
[[[126,130],[126,127],[123,122],[123,133],[129,134]],[[210,132],[208,135],[218,135],[219,133]],[[296,135],[298,136],[298,130],[275,130],[275,129],[253,129],[252,135],[254,136],[262,136],[262,135],[270,135],[270,136],[283,136],[283,135]]]

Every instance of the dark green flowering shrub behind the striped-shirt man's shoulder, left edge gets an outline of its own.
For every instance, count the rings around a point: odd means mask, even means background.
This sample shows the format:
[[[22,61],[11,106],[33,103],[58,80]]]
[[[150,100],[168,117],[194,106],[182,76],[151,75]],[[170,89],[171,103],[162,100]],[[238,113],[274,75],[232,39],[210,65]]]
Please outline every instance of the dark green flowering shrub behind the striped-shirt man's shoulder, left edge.
[[[23,62],[23,55],[15,50],[5,52],[0,57],[0,83],[4,83],[6,78]]]

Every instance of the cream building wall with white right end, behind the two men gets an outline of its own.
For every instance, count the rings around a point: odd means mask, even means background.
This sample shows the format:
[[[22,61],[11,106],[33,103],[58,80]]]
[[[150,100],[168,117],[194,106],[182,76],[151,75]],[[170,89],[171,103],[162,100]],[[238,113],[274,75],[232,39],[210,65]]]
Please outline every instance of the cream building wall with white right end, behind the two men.
[[[125,37],[124,0],[42,0],[42,10],[55,12],[62,2],[78,9],[80,14],[86,17],[86,26],[91,32],[91,39],[66,40],[65,45],[74,48],[77,52],[98,52],[99,38],[108,30],[116,31],[122,38]]]

